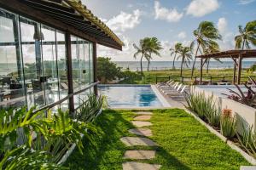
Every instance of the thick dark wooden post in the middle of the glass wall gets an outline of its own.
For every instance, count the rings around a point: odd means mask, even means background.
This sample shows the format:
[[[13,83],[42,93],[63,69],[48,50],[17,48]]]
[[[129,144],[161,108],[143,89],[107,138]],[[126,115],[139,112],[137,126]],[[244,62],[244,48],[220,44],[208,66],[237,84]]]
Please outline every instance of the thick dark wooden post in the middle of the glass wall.
[[[66,53],[67,53],[67,81],[68,81],[68,94],[73,94],[73,75],[72,75],[72,51],[71,51],[71,37],[70,33],[65,34]],[[69,98],[69,111],[70,114],[74,113],[73,97]]]

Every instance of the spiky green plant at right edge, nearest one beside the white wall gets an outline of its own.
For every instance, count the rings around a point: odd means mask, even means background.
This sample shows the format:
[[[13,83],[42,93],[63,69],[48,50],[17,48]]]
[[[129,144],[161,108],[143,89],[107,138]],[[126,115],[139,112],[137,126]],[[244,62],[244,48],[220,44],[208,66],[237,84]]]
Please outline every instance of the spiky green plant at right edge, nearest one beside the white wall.
[[[253,131],[253,127],[246,129],[243,126],[242,134],[236,133],[239,143],[247,153],[256,158],[256,133]]]

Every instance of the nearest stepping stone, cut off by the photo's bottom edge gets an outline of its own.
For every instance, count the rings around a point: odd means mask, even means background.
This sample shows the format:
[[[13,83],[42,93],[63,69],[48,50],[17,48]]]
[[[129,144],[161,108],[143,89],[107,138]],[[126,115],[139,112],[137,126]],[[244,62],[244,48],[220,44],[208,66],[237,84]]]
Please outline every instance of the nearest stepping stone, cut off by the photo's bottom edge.
[[[127,161],[123,163],[123,170],[158,170],[160,165]]]

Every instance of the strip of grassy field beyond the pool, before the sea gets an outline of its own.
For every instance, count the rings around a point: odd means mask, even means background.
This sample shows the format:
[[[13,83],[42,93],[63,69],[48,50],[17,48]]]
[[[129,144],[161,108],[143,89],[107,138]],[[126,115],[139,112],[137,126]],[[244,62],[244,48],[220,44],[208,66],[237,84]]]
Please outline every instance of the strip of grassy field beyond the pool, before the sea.
[[[168,70],[168,71],[144,71],[144,79],[141,78],[137,79],[127,79],[119,83],[129,83],[129,84],[154,84],[156,77],[180,77],[180,71],[179,70]],[[226,77],[225,80],[232,81],[233,77],[233,69],[222,69],[222,70],[210,70],[208,73],[206,70],[203,70],[203,76],[204,77]],[[248,76],[255,76],[253,72],[247,72],[246,69],[241,71],[241,79],[242,82],[247,81]],[[191,69],[186,69],[183,71],[183,77],[191,77]],[[194,77],[198,77],[197,80],[199,80],[200,77],[200,71],[195,70]],[[223,78],[213,78],[212,82],[219,82]],[[166,81],[167,79],[162,79],[163,81]],[[176,80],[179,80],[178,78]]]

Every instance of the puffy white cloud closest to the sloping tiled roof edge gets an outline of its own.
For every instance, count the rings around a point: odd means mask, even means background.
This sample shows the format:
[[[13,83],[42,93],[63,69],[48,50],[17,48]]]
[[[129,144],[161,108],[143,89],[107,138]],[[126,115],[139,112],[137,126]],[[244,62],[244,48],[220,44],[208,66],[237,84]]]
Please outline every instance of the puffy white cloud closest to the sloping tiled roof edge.
[[[141,14],[139,9],[134,10],[132,14],[121,11],[120,14],[113,16],[112,19],[108,20],[107,25],[113,31],[126,31],[140,24]]]

